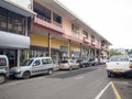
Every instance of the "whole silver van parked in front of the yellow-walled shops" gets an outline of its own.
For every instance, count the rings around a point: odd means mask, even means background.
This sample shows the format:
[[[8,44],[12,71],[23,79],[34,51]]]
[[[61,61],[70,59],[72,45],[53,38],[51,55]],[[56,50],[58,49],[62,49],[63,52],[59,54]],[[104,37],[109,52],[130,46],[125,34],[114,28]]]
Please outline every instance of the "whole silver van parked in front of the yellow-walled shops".
[[[30,78],[34,75],[53,74],[53,61],[51,57],[34,57],[24,61],[21,66],[12,67],[10,76],[16,78]]]

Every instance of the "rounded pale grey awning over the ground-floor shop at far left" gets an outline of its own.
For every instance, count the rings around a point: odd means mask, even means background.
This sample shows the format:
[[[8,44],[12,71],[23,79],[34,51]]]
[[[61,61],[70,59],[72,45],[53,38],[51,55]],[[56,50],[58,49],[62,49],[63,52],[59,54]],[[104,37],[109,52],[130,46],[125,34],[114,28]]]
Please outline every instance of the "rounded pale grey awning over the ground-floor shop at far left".
[[[30,37],[0,31],[0,47],[30,48]]]

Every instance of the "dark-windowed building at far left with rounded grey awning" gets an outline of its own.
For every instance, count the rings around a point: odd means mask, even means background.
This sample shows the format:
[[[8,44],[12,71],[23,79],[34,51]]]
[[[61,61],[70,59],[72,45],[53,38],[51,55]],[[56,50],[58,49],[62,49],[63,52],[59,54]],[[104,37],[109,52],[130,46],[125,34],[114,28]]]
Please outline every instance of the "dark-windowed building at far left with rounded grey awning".
[[[10,67],[26,58],[30,48],[30,18],[34,12],[10,0],[0,0],[0,54],[7,55]]]

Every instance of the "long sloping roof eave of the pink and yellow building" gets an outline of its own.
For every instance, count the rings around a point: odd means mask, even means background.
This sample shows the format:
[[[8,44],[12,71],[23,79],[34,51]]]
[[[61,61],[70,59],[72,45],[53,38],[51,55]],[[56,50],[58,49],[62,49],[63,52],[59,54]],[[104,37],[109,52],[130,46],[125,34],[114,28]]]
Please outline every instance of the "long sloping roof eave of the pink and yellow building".
[[[73,11],[70,11],[68,8],[66,8],[63,3],[61,3],[58,0],[40,0],[44,2],[44,4],[51,7],[55,11],[59,12],[62,16],[67,18],[70,22],[76,23],[78,25],[81,25],[85,30],[98,35],[102,40],[107,41],[109,45],[111,43],[105,38],[102,35],[94,31],[88,24],[86,24],[78,15],[76,15]]]

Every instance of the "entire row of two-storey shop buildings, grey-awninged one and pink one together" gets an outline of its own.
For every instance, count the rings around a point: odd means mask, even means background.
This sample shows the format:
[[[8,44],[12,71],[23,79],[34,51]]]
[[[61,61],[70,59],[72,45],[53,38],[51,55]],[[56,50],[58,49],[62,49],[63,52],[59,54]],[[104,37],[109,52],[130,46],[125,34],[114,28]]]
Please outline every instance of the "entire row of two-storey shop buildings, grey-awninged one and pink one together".
[[[107,57],[110,42],[57,0],[26,0],[25,8],[12,1],[0,1],[0,54],[9,57],[10,67],[38,56],[51,56],[56,65]]]

